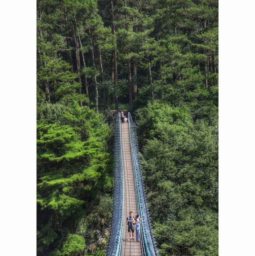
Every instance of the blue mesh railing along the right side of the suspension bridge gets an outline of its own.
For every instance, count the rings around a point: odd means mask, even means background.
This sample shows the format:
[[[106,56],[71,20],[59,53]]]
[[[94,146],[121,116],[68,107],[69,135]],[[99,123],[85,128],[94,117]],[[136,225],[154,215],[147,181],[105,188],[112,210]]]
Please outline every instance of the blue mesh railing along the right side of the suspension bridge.
[[[130,147],[132,164],[134,170],[134,181],[137,199],[137,212],[140,214],[142,219],[140,234],[143,255],[146,256],[159,256],[156,241],[154,239],[151,219],[149,216],[149,210],[146,200],[146,193],[143,185],[143,178],[140,166],[139,152],[137,147],[137,134],[135,124],[132,120],[131,114],[128,113],[129,123],[129,136],[130,136]]]

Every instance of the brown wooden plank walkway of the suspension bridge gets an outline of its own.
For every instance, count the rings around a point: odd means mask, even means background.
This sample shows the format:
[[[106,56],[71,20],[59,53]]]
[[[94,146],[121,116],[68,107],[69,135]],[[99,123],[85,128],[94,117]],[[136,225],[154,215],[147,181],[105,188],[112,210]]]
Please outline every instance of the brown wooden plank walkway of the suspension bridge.
[[[121,142],[122,142],[122,157],[123,157],[123,172],[124,172],[124,216],[123,216],[123,241],[122,241],[122,256],[142,256],[141,242],[128,240],[128,225],[126,219],[130,211],[133,215],[137,215],[137,205],[135,196],[134,174],[131,159],[131,148],[129,139],[128,123],[121,124]]]

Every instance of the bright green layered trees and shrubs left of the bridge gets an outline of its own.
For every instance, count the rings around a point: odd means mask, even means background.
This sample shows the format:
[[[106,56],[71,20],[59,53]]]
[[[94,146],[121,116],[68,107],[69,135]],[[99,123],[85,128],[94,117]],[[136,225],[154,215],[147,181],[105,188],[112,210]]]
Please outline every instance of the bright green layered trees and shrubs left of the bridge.
[[[80,255],[84,237],[96,244],[110,217],[112,130],[69,101],[38,106],[37,134],[38,254]]]

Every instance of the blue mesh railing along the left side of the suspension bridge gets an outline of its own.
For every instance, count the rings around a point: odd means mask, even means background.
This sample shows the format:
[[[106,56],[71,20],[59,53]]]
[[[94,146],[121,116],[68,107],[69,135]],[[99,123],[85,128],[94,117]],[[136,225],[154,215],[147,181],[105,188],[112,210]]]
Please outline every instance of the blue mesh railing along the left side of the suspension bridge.
[[[124,209],[124,180],[121,146],[120,113],[115,122],[114,143],[114,186],[113,209],[110,226],[110,238],[107,256],[120,256],[122,249],[123,209]]]

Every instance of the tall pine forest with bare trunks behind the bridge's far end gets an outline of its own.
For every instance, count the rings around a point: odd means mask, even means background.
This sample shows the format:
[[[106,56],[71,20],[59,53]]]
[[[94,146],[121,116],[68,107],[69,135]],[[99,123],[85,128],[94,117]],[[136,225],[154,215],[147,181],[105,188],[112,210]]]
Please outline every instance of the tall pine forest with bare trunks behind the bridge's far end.
[[[152,97],[208,115],[217,19],[216,0],[38,0],[38,86],[48,103],[76,97],[97,112]]]

